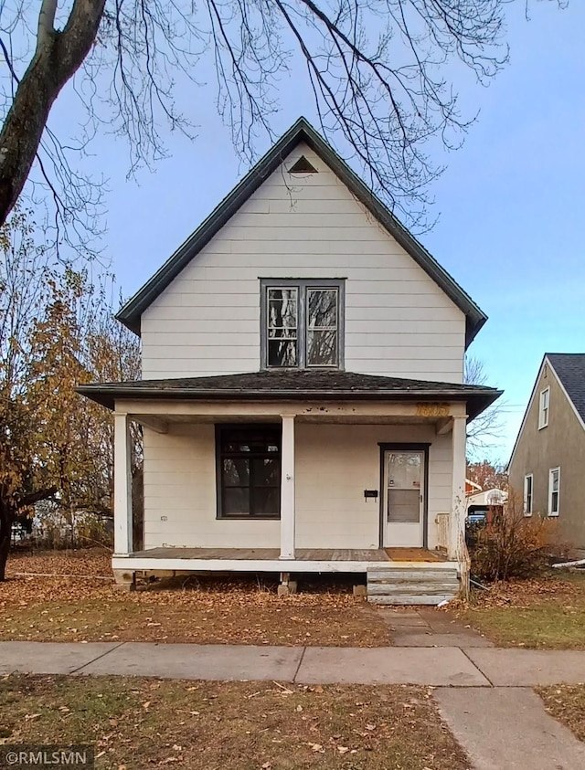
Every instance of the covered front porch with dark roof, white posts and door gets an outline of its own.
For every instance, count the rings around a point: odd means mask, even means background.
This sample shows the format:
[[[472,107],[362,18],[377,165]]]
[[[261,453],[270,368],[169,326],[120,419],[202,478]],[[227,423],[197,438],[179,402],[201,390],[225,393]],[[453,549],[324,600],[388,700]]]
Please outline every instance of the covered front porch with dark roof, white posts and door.
[[[466,423],[491,388],[313,371],[80,391],[114,411],[114,570],[463,567]],[[144,427],[140,551],[133,421]],[[399,546],[428,560],[395,558]]]

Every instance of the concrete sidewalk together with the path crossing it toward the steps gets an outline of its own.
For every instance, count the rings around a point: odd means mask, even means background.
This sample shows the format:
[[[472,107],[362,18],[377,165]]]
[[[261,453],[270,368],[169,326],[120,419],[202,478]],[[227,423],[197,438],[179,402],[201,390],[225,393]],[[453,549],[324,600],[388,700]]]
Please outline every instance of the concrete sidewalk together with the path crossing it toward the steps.
[[[415,647],[0,642],[0,675],[431,685],[437,688],[434,697],[441,716],[462,744],[473,770],[585,767],[585,744],[550,717],[537,694],[528,689],[585,682],[585,651],[496,649],[477,639],[473,644],[473,636],[461,627],[433,629],[426,628],[426,621],[410,620],[413,625],[400,627],[401,636],[403,642],[418,638]],[[441,645],[446,641],[443,637],[472,644],[430,647],[425,636],[434,641],[441,637]]]

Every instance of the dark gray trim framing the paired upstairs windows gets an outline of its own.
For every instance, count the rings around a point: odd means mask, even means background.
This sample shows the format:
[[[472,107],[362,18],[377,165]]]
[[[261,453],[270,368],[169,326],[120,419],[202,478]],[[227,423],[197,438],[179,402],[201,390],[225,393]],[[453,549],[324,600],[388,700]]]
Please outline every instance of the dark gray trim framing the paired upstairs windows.
[[[329,371],[343,371],[346,368],[346,279],[345,278],[261,278],[260,299],[260,341],[261,341],[261,369],[270,371],[279,370],[314,370],[327,369]],[[268,365],[268,290],[269,289],[293,289],[299,293],[299,307],[297,319],[298,339],[298,364],[296,366],[269,366]],[[308,289],[335,289],[337,290],[337,363],[332,365],[307,365],[306,350],[309,330],[306,325],[306,296]]]

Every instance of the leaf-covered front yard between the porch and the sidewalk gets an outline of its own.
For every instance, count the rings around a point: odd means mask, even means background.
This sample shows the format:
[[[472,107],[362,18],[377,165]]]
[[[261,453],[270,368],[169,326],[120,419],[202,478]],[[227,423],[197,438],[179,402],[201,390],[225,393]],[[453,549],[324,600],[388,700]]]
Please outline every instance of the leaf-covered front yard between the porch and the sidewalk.
[[[112,575],[110,554],[98,551],[14,554],[7,572],[10,579],[0,583],[1,640],[391,644],[388,624],[352,595],[351,581],[339,578],[308,578],[303,593],[287,597],[255,575],[176,579],[171,587],[156,583],[125,594],[98,579]]]

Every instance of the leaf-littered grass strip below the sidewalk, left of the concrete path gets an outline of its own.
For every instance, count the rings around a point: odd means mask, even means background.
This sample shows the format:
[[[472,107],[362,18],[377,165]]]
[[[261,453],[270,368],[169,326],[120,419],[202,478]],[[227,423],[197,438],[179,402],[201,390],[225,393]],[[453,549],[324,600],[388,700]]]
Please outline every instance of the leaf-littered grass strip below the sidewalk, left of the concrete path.
[[[431,691],[0,678],[0,738],[93,744],[96,770],[466,770]]]

